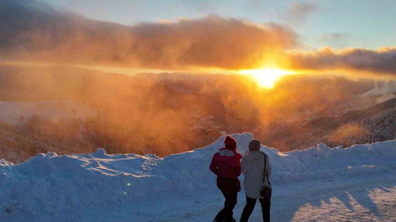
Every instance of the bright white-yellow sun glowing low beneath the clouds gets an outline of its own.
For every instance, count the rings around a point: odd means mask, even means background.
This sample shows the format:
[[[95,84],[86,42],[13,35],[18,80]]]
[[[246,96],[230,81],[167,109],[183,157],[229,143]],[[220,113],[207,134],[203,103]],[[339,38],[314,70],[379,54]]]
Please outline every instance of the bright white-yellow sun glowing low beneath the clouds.
[[[293,74],[292,71],[272,68],[265,68],[262,70],[241,70],[240,73],[252,75],[259,85],[266,88],[274,87],[276,81],[278,81],[280,77]]]

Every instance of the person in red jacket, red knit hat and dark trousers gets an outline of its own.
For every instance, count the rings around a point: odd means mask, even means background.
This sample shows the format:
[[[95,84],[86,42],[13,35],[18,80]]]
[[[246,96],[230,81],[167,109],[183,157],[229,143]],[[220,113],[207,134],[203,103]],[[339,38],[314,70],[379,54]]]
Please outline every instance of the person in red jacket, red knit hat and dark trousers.
[[[227,136],[224,141],[225,147],[219,149],[213,155],[209,169],[217,175],[217,187],[225,197],[224,208],[216,215],[213,222],[234,222],[233,210],[236,205],[238,192],[241,184],[238,176],[241,175],[241,158],[236,149],[234,138]]]

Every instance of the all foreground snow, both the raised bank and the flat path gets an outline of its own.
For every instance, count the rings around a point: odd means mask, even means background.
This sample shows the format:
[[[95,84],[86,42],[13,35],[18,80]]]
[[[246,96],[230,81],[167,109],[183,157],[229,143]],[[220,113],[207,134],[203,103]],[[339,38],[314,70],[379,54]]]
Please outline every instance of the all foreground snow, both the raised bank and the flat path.
[[[244,154],[252,135],[232,136]],[[223,198],[208,166],[223,141],[165,158],[98,149],[38,154],[17,165],[1,160],[0,220],[211,221]],[[261,149],[272,165],[272,221],[396,221],[396,140],[347,149]],[[244,202],[242,191],[237,219]],[[257,204],[251,221],[260,218]]]

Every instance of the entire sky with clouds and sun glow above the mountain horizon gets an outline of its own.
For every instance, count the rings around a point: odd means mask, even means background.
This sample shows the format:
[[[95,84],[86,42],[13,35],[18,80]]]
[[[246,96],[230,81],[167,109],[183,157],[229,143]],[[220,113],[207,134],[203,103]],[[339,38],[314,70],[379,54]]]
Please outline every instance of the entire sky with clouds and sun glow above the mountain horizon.
[[[3,0],[0,62],[393,79],[394,8],[390,0]]]

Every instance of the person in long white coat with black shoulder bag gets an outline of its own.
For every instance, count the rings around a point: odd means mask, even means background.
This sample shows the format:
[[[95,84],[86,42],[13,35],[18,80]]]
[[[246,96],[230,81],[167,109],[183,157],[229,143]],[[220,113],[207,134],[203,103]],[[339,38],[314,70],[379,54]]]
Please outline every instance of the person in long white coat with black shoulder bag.
[[[253,139],[249,143],[249,151],[246,152],[242,158],[242,173],[245,175],[245,194],[246,194],[246,206],[242,212],[240,222],[247,222],[250,214],[253,212],[254,206],[256,205],[257,198],[261,204],[261,211],[263,213],[263,221],[270,221],[270,206],[271,199],[263,198],[260,196],[261,189],[263,186],[271,187],[270,179],[271,176],[271,164],[269,158],[264,152],[260,150],[260,141]],[[265,161],[264,158],[267,158]],[[264,177],[264,162],[266,162],[265,173],[266,178],[263,183]]]

